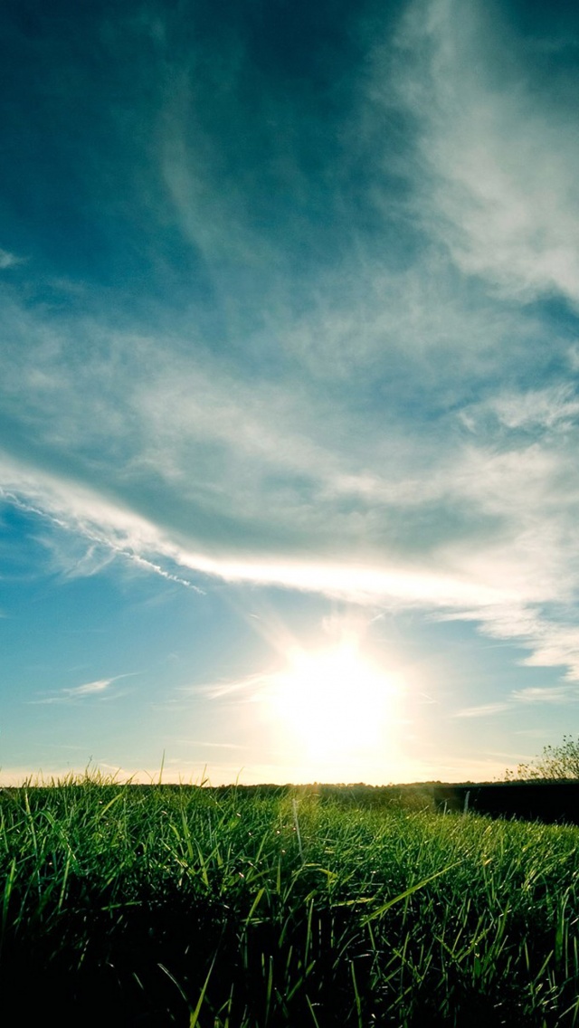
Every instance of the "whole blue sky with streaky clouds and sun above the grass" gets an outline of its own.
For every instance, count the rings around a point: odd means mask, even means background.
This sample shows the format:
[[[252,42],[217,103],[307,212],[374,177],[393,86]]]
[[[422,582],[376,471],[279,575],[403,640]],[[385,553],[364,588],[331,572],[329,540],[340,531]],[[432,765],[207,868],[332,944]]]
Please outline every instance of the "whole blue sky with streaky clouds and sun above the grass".
[[[0,27],[0,781],[579,731],[577,5]]]

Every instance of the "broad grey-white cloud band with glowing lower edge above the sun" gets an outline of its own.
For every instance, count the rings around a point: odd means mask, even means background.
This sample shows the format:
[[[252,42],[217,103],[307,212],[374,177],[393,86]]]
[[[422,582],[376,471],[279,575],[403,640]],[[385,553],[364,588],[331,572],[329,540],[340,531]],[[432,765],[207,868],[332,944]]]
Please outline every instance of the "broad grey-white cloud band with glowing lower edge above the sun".
[[[75,449],[80,454],[76,473],[60,472],[56,440],[52,473],[35,467],[32,450],[28,466],[6,458],[3,477],[7,495],[12,490],[24,498],[19,502],[48,513],[57,528],[86,541],[69,574],[94,573],[112,554],[197,589],[195,576],[202,584],[217,576],[360,602],[462,610],[485,630],[493,623],[506,632],[502,637],[519,635],[520,621],[513,624],[509,614],[517,603],[519,619],[524,603],[573,593],[572,446],[553,451],[541,441],[524,442],[501,452],[485,432],[462,440],[457,418],[459,431],[444,448],[438,430],[419,423],[405,432],[398,423],[388,445],[382,435],[371,440],[360,467],[357,430],[364,423],[356,415],[348,436],[342,427],[335,431],[336,415],[328,411],[328,423],[320,420],[324,405],[293,392],[291,382],[284,389],[256,382],[250,390],[226,369],[213,365],[210,373],[211,365],[204,370],[203,362],[182,356],[170,367],[167,348],[161,363],[152,343],[140,339],[133,340],[138,364],[132,377],[113,379],[107,399],[111,372],[104,355],[102,364],[89,362],[85,379],[86,369],[79,369],[75,384],[66,366],[59,375],[62,356],[45,344],[35,362],[35,374],[42,375],[34,387],[38,413],[33,404],[32,416],[25,415],[30,429],[26,423],[24,429],[36,433],[40,417],[62,410],[60,435],[71,467]],[[109,342],[113,356],[124,345],[121,337]],[[143,381],[139,365],[147,369]],[[93,390],[99,383],[94,395],[88,375]],[[47,399],[44,381],[50,382]],[[78,418],[76,390],[84,397]],[[551,407],[560,407],[567,397],[548,394],[545,404],[550,398]],[[101,410],[91,411],[97,400]],[[110,418],[103,417],[105,402]],[[491,400],[488,409],[497,403]],[[126,450],[120,465],[117,448]]]

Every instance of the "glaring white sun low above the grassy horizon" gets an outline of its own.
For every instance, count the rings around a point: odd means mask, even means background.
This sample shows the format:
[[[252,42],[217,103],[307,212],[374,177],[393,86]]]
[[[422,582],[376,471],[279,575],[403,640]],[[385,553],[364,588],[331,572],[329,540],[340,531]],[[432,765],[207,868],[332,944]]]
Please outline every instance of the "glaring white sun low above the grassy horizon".
[[[286,736],[309,756],[350,756],[379,742],[398,693],[395,675],[366,660],[356,645],[288,656],[272,700]]]

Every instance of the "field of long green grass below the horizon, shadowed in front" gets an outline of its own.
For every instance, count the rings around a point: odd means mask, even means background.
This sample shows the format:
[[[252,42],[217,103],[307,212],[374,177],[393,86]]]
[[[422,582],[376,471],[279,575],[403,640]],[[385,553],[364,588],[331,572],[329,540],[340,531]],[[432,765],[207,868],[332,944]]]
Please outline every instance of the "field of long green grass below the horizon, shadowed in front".
[[[579,830],[414,805],[2,791],[4,1004],[23,1025],[579,1024]]]

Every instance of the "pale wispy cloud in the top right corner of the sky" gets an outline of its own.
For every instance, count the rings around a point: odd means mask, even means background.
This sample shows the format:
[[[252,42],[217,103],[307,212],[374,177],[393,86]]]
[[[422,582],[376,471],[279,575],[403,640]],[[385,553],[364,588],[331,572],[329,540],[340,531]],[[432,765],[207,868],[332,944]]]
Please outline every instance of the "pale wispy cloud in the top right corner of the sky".
[[[576,305],[579,143],[556,47],[537,80],[499,5],[460,0],[411,4],[398,42],[425,223],[499,295]]]

